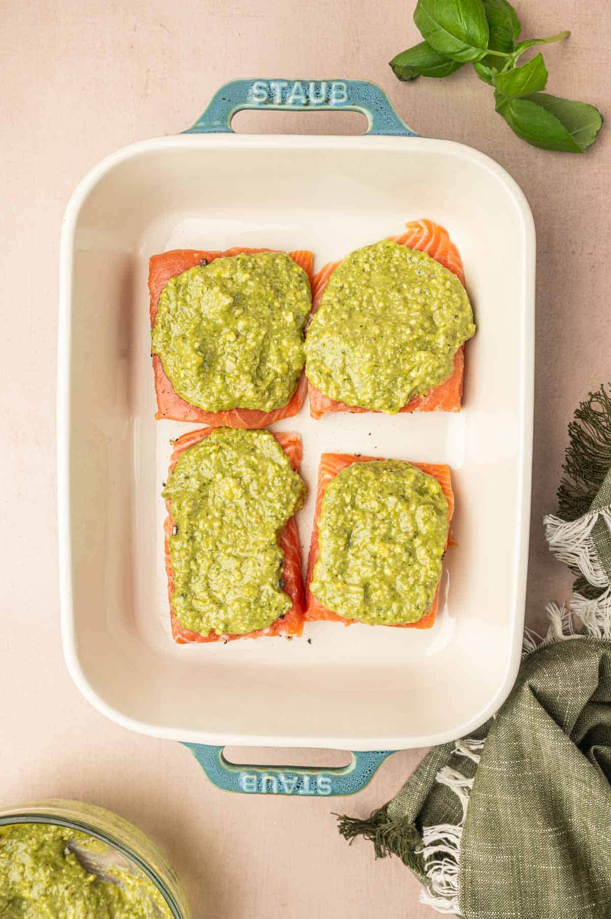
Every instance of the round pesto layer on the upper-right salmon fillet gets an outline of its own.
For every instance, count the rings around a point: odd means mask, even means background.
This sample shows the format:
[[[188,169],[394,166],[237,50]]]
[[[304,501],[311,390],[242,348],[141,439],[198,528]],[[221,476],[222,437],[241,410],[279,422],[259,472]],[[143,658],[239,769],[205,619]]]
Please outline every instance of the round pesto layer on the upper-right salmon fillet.
[[[332,399],[395,414],[452,375],[474,333],[456,275],[383,240],[335,269],[308,329],[306,374]]]

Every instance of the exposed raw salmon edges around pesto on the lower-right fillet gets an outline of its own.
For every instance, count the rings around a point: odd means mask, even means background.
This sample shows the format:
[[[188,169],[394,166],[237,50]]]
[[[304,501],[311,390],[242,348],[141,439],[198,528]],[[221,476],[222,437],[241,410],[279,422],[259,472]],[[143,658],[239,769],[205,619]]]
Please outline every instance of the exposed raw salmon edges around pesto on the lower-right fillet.
[[[371,462],[379,460],[381,457],[357,457],[352,453],[323,453],[321,457],[321,465],[318,471],[318,489],[316,492],[316,509],[314,511],[314,522],[311,529],[311,543],[310,543],[310,555],[308,557],[308,573],[306,577],[306,610],[305,618],[308,621],[315,621],[318,619],[327,619],[330,622],[343,622],[345,626],[353,625],[356,622],[356,619],[346,619],[343,616],[338,616],[337,613],[332,612],[330,609],[322,606],[322,603],[319,603],[318,599],[312,594],[310,589],[312,573],[314,571],[314,565],[318,559],[318,518],[321,515],[321,505],[322,505],[322,495],[324,494],[324,489],[327,487],[328,483],[337,475],[338,472],[341,472],[345,469],[346,466],[351,466],[353,462]],[[449,466],[446,465],[432,465],[430,463],[423,462],[414,462],[411,464],[416,466],[418,469],[425,472],[427,475],[432,475],[436,478],[437,482],[441,485],[443,493],[447,498],[447,522],[452,519],[454,516],[454,492],[452,491],[452,481],[450,478]],[[448,545],[451,545],[453,540],[448,534],[448,539],[446,543],[446,548]],[[439,605],[439,584],[437,584],[437,590],[435,595],[435,600],[433,601],[433,606],[428,610],[427,613],[424,613],[423,618],[418,619],[417,622],[409,622],[406,625],[400,626],[387,626],[389,629],[430,629],[434,623],[437,615],[437,607]]]

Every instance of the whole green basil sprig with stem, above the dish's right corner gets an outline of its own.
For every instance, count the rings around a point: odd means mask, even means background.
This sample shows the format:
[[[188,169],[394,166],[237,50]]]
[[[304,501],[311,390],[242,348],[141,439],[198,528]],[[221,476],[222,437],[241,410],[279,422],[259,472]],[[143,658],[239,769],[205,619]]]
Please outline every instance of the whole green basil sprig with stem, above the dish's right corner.
[[[494,89],[496,111],[522,140],[565,153],[585,153],[594,143],[603,123],[598,109],[541,92],[548,70],[540,52],[518,64],[528,49],[570,32],[518,41],[522,27],[508,0],[418,0],[413,21],[424,41],[390,61],[398,79],[442,78],[472,63]]]

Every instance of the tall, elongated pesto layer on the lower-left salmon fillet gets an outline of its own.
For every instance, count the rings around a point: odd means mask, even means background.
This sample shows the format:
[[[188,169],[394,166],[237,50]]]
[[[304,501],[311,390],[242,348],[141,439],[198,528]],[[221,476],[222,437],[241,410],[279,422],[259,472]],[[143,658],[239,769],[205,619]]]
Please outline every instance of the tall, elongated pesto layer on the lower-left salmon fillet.
[[[266,629],[289,611],[278,538],[305,486],[268,431],[220,427],[180,455],[172,502],[172,606],[201,635]]]

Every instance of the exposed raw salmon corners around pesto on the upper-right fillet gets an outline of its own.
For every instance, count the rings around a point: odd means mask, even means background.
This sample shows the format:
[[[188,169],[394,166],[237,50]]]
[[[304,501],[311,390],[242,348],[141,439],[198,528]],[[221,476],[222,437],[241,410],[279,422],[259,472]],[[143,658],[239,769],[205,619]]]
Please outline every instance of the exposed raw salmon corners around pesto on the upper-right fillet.
[[[425,252],[431,258],[435,258],[440,265],[453,272],[464,287],[465,276],[462,270],[462,261],[460,254],[454,243],[449,238],[447,230],[433,221],[411,221],[405,224],[405,233],[399,236],[389,236],[388,239],[400,245],[405,245],[409,249],[417,249]],[[311,281],[312,290],[312,314],[316,312],[321,305],[322,294],[324,293],[329,279],[334,273],[336,267],[342,264],[342,259],[338,262],[330,262],[317,272]],[[414,396],[407,405],[400,409],[402,412],[459,412],[460,401],[462,399],[462,383],[464,377],[464,345],[458,348],[454,358],[454,371],[451,377],[440,383],[424,395]],[[322,415],[330,412],[354,412],[361,414],[369,412],[370,409],[362,408],[359,405],[346,405],[330,399],[308,380],[308,396],[310,399],[310,414],[312,418],[322,418]]]

